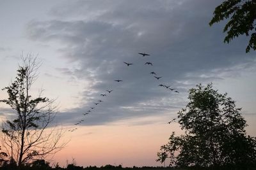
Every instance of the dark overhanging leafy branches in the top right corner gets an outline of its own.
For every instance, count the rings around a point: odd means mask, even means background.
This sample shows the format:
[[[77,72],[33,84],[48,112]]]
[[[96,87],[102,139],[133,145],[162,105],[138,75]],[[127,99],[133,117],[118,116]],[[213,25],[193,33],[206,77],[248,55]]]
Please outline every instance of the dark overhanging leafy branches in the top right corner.
[[[256,50],[256,1],[255,0],[226,0],[217,6],[214,10],[210,25],[228,20],[223,32],[227,32],[224,39],[225,43],[240,35],[245,34],[251,36],[246,53],[250,52],[251,48]]]

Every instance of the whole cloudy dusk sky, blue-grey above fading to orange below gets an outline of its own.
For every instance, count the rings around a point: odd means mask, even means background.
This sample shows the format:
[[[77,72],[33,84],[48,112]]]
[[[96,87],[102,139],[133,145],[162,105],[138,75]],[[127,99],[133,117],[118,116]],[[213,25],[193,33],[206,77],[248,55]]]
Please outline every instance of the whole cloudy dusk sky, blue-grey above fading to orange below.
[[[256,136],[255,52],[245,53],[246,36],[223,43],[225,22],[209,26],[221,2],[0,1],[0,87],[15,78],[20,55],[42,62],[32,93],[44,89],[56,99],[58,124],[77,128],[66,132],[69,143],[52,160],[62,166],[72,159],[79,166],[161,166],[155,161],[160,146],[172,131],[182,133],[168,122],[198,83],[227,92]],[[9,113],[0,104],[2,120]]]

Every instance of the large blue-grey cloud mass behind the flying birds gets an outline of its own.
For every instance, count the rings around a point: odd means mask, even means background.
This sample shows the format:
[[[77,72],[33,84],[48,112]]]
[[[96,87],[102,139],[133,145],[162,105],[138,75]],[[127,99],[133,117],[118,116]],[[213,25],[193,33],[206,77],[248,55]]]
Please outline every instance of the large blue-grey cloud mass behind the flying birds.
[[[219,81],[255,67],[255,52],[245,53],[248,38],[223,44],[223,24],[209,27],[221,1],[68,1],[53,8],[52,20],[32,20],[27,38],[56,49],[70,67],[56,68],[70,80],[85,80],[79,108],[60,114],[73,124],[82,113],[84,125],[160,115],[184,106],[196,83]],[[141,57],[138,52],[150,53]],[[125,66],[124,62],[134,65]],[[153,66],[145,65],[152,62]],[[156,80],[154,71],[163,78]],[[54,75],[52,75],[54,76]],[[113,80],[121,79],[117,83]],[[171,85],[175,94],[159,87]],[[108,94],[106,90],[113,90]],[[100,97],[100,94],[107,94]]]

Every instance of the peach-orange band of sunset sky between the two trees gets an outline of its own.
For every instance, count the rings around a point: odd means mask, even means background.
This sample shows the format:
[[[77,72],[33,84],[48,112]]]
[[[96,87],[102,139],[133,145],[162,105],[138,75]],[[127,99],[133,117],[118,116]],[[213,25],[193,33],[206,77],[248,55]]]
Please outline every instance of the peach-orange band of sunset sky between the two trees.
[[[161,166],[156,162],[160,146],[167,143],[172,131],[180,131],[178,124],[169,125],[166,122],[79,127],[76,132],[67,135],[71,138],[70,143],[56,153],[54,162],[66,166],[67,160],[71,163],[72,159],[76,159],[78,166]]]

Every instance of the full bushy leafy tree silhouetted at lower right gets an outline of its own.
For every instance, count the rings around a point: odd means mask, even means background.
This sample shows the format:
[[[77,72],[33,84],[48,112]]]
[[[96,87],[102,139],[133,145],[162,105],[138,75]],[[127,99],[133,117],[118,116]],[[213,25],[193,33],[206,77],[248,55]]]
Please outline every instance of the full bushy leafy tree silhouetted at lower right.
[[[212,84],[200,84],[189,90],[188,99],[177,117],[184,134],[173,132],[157,153],[157,161],[169,158],[170,166],[178,167],[255,166],[256,139],[246,135],[241,108],[236,108],[227,93],[218,93]]]

